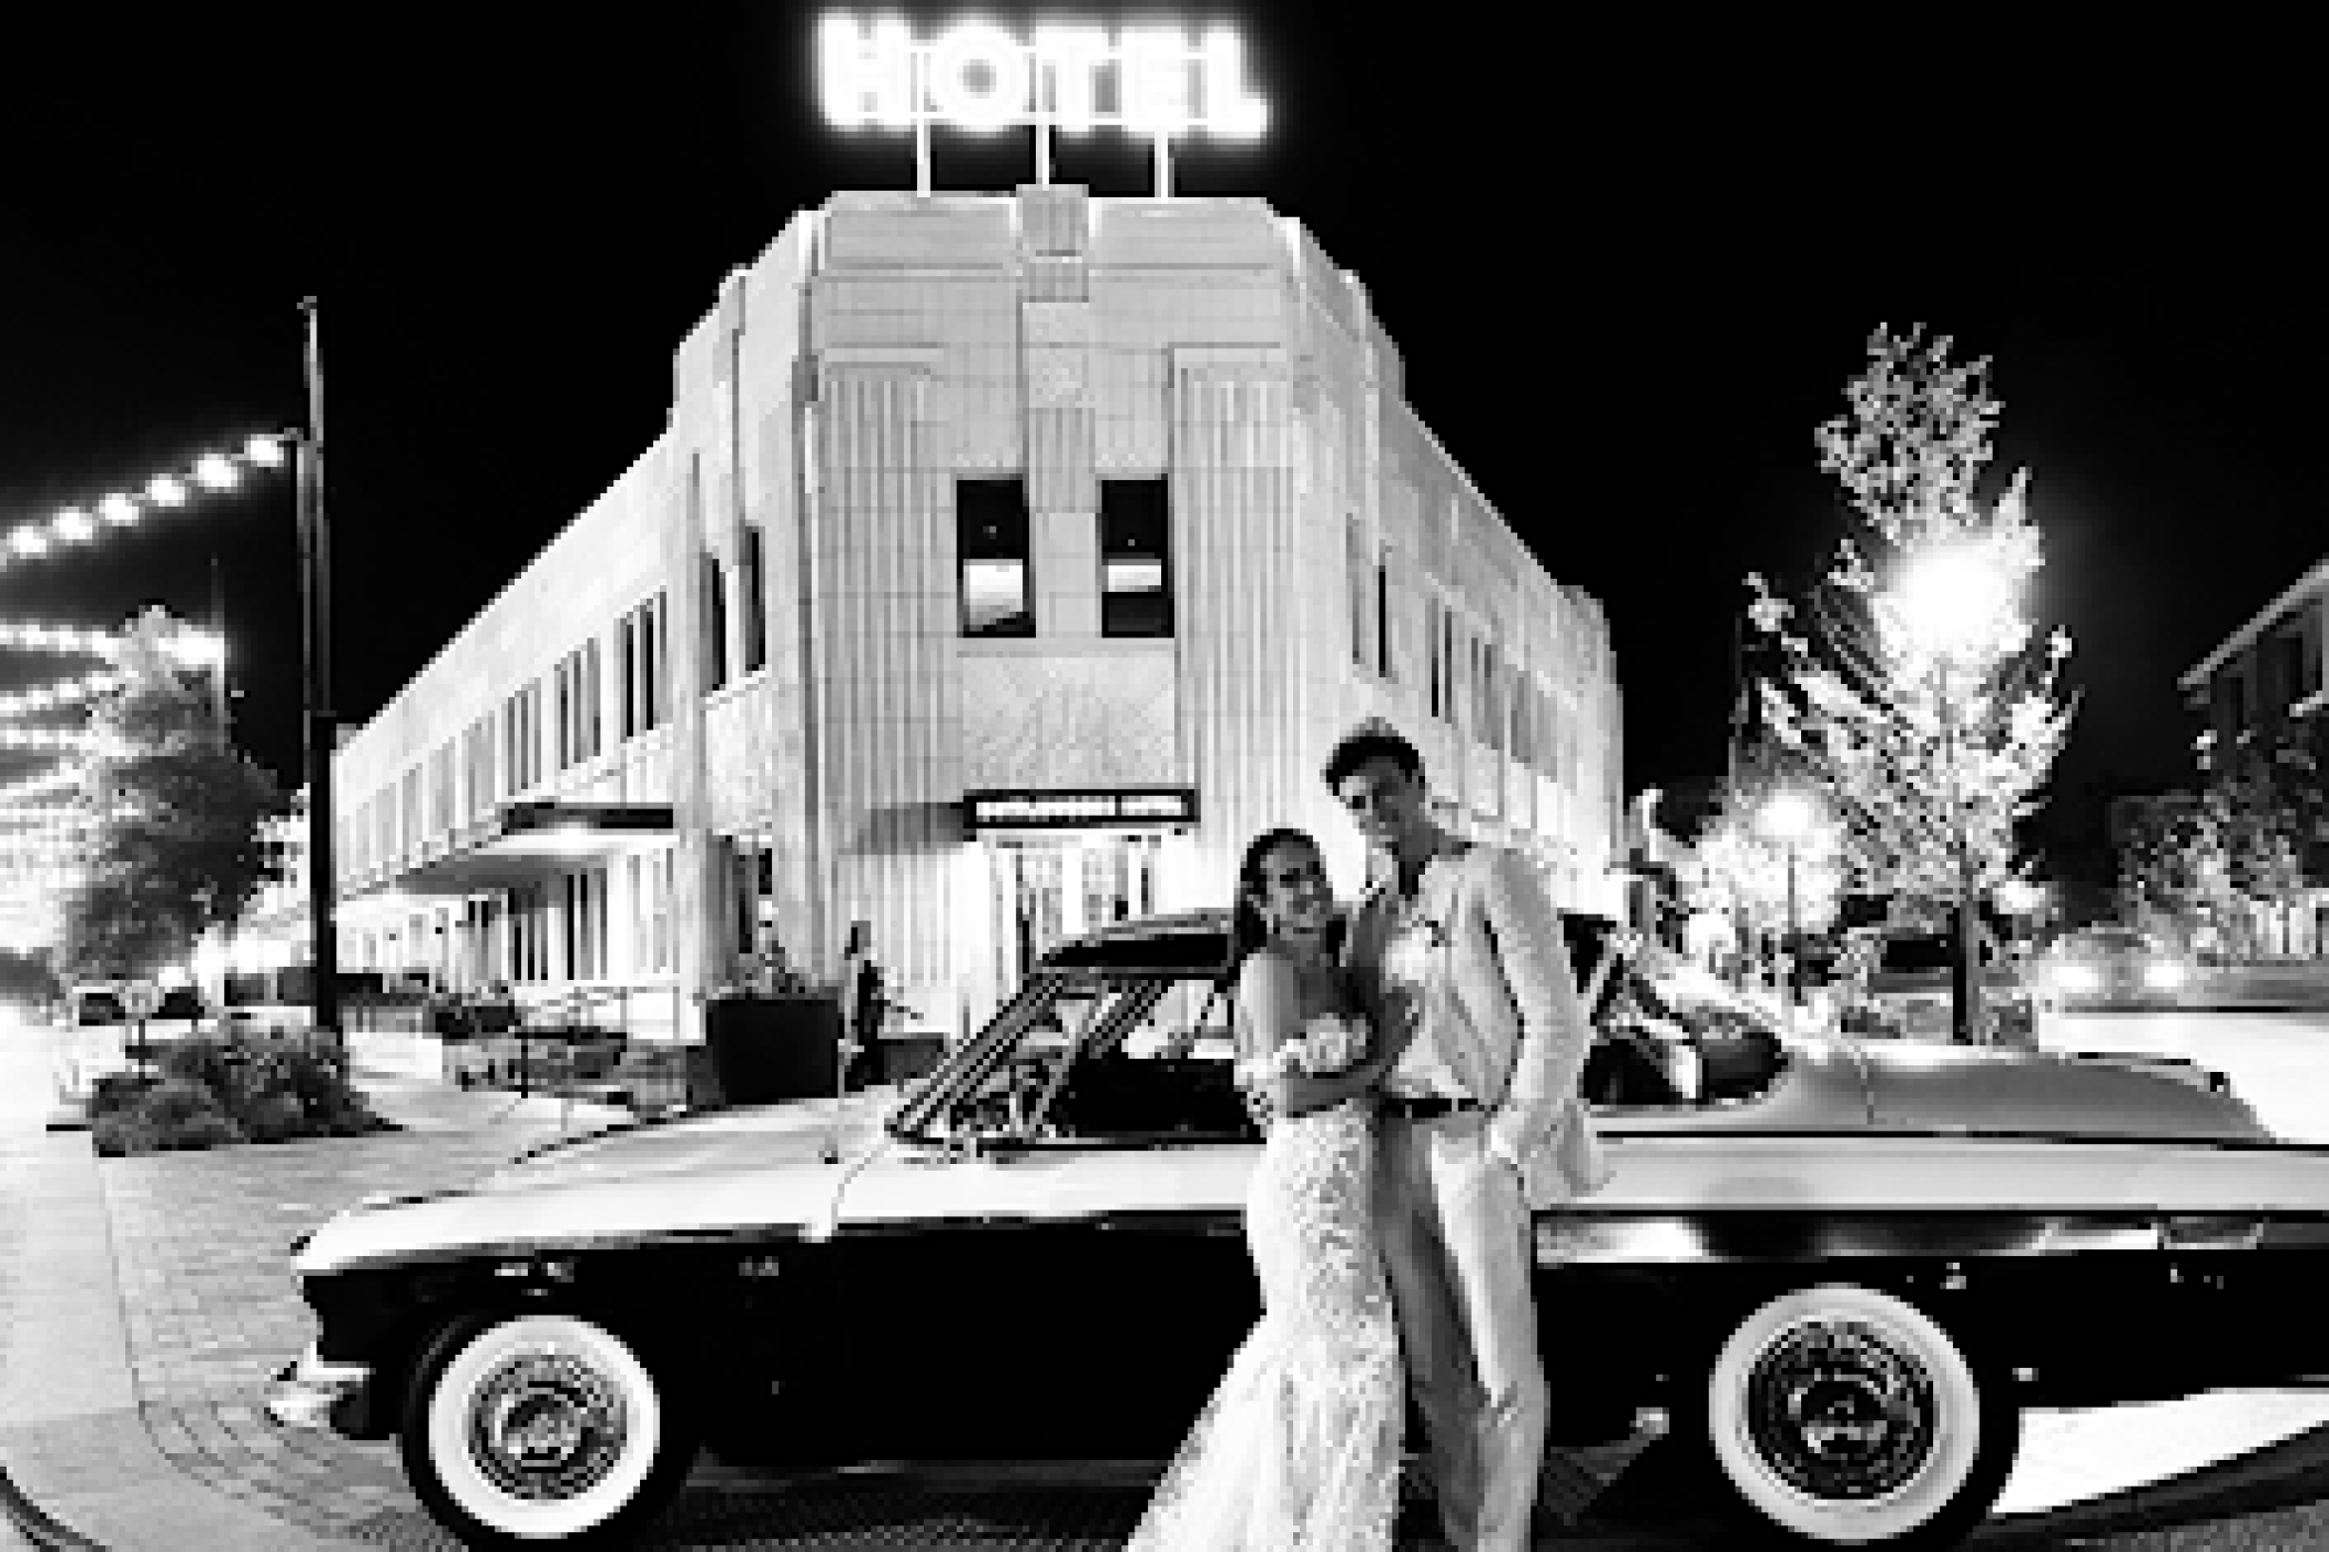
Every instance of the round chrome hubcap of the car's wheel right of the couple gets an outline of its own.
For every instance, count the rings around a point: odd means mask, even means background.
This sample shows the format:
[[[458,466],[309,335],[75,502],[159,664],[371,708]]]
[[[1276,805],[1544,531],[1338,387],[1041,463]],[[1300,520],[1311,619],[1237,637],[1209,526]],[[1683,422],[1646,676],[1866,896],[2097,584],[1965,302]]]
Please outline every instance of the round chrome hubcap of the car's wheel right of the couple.
[[[1933,1380],[1859,1322],[1779,1333],[1747,1375],[1756,1454],[1814,1498],[1880,1498],[1931,1459]]]

